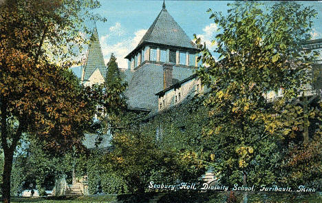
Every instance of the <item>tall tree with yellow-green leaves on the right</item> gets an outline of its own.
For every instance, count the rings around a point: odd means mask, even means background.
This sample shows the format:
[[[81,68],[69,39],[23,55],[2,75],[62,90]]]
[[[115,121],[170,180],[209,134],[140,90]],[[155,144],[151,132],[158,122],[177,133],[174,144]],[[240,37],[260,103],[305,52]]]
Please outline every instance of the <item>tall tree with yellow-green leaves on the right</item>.
[[[237,1],[228,6],[226,17],[219,12],[211,14],[219,25],[214,52],[222,60],[215,61],[206,45],[196,39],[206,64],[197,75],[209,88],[204,105],[211,109],[203,136],[205,141],[213,140],[208,142],[215,146],[210,149],[220,149],[215,156],[221,166],[217,169],[226,173],[225,167],[230,166],[230,174],[223,175],[243,174],[246,185],[247,175],[265,163],[256,158],[270,159],[269,150],[260,153],[263,147],[269,149],[268,140],[283,138],[283,108],[310,82],[308,70],[314,57],[302,45],[310,39],[316,12],[294,2]],[[281,87],[283,98],[268,103],[265,95]],[[278,161],[275,159],[275,164]],[[272,166],[268,164],[272,163],[261,165],[264,173],[258,175],[266,175],[263,169]],[[225,179],[233,183],[229,177]]]

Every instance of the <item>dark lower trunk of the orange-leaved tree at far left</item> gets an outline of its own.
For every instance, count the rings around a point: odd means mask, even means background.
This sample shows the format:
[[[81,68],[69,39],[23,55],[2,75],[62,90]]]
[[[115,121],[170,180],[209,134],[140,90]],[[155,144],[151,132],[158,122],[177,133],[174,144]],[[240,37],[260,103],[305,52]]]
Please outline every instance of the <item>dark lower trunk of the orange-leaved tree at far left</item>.
[[[4,152],[4,167],[3,167],[3,183],[2,183],[2,200],[5,203],[10,203],[10,178],[12,171],[13,151],[11,149],[3,150]]]

